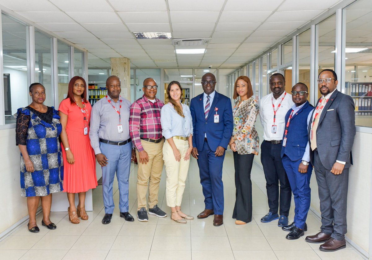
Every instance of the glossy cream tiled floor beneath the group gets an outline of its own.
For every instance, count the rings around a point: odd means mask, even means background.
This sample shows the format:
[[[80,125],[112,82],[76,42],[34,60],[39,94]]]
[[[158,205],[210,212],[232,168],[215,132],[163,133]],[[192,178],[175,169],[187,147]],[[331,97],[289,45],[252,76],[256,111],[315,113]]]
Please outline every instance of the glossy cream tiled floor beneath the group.
[[[183,196],[182,210],[195,216],[187,224],[177,224],[170,217],[158,218],[149,215],[148,222],[139,222],[137,213],[137,166],[132,165],[129,190],[129,208],[135,216],[134,222],[126,222],[119,217],[115,208],[112,221],[101,224],[103,215],[102,186],[93,191],[93,212],[88,212],[89,220],[73,225],[68,221],[67,212],[52,212],[56,230],[49,231],[41,226],[42,216],[38,216],[40,232],[28,232],[26,224],[15,230],[0,242],[0,259],[362,259],[356,251],[347,246],[333,253],[319,251],[319,244],[309,244],[304,237],[286,240],[286,232],[277,226],[277,221],[260,222],[268,212],[265,181],[260,168],[253,165],[253,220],[247,225],[235,225],[232,210],[235,202],[234,163],[231,152],[224,161],[224,225],[214,227],[213,217],[197,219],[196,215],[204,209],[203,194],[199,179],[198,165],[192,159],[189,177]],[[165,199],[166,173],[163,171],[159,203],[170,214]],[[119,204],[118,186],[115,187],[115,204]],[[292,201],[292,205],[294,205]],[[294,207],[291,212],[293,214]],[[289,216],[290,221],[293,215]],[[315,234],[320,221],[309,213],[308,231]]]

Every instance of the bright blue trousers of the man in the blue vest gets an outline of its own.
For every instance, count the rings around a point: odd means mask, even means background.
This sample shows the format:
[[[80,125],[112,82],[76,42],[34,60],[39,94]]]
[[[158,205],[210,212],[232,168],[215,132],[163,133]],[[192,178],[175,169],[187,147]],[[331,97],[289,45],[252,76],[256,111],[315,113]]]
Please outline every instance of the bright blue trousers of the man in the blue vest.
[[[298,171],[298,166],[302,160],[291,161],[287,155],[284,155],[282,161],[295,199],[294,222],[296,227],[304,229],[307,213],[310,208],[310,177],[312,165],[311,163],[309,164],[307,173],[300,173]]]

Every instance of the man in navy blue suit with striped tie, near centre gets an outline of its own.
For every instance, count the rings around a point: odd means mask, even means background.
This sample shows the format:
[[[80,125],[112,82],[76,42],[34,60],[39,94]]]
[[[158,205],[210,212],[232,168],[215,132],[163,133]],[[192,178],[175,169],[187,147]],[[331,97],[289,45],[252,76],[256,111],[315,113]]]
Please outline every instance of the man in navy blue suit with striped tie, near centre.
[[[204,93],[190,102],[194,135],[192,156],[198,160],[205,209],[198,218],[214,215],[213,225],[223,224],[224,186],[222,163],[232,134],[231,100],[216,92],[216,77],[202,77]]]

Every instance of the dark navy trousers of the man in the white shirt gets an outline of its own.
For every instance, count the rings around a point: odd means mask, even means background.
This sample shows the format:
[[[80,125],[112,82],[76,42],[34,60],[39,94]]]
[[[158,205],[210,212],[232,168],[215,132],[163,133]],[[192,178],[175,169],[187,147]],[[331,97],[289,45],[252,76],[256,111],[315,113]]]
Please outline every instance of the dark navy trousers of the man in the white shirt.
[[[272,144],[263,141],[261,145],[261,163],[266,179],[267,201],[270,212],[278,213],[279,208],[279,189],[280,182],[280,208],[279,215],[289,215],[291,207],[292,190],[287,174],[285,173],[280,151],[281,144]]]

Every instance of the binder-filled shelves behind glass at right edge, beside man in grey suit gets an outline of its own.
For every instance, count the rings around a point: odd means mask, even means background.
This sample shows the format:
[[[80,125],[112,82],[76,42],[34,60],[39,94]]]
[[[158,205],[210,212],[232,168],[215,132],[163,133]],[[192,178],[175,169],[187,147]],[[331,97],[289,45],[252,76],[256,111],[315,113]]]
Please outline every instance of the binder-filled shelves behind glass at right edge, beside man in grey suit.
[[[346,93],[354,100],[355,115],[372,115],[372,82],[346,82]]]

